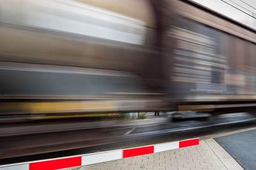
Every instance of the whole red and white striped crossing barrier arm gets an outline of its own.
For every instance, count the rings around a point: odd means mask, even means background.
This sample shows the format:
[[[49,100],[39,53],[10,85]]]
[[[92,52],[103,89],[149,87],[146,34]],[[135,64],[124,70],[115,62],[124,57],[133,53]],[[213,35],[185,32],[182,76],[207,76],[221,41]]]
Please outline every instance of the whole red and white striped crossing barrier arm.
[[[38,160],[34,162],[24,162],[20,164],[10,164],[0,166],[0,170],[53,170],[68,167],[86,166],[110,160],[117,160],[127,157],[146,155],[149,153],[163,152],[187,146],[199,145],[199,138],[184,141],[161,143],[156,145],[141,146],[138,148],[111,150],[107,152],[89,153],[72,157],[62,157],[59,159]]]

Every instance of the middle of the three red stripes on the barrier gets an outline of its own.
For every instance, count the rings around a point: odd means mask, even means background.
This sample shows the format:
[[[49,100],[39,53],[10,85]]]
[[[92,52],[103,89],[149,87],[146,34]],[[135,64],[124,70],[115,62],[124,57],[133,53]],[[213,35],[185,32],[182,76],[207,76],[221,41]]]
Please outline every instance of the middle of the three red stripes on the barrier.
[[[146,155],[149,153],[154,153],[154,146],[145,146],[141,148],[123,150],[123,158]]]

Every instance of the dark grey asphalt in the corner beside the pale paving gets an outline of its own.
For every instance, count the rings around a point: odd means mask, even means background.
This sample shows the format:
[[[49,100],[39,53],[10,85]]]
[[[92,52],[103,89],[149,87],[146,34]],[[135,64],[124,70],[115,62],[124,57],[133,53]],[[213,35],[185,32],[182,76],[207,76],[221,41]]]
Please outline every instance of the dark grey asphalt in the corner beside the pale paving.
[[[256,169],[256,130],[231,134],[215,140],[244,169]]]

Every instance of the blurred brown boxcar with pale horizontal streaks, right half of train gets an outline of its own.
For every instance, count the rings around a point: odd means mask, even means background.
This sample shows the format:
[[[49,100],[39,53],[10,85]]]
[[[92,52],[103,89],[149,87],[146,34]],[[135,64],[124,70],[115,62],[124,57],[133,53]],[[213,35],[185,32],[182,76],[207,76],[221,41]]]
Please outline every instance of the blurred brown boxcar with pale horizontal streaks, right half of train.
[[[171,16],[162,24],[163,56],[170,73],[168,94],[177,109],[255,106],[255,29],[193,1],[168,6],[162,10]]]

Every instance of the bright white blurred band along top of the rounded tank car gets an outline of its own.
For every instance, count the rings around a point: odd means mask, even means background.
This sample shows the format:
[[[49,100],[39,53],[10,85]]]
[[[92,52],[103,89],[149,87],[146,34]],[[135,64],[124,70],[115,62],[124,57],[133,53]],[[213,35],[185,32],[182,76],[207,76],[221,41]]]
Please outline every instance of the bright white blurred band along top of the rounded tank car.
[[[17,4],[20,4],[19,8]],[[143,21],[76,1],[1,1],[1,11],[1,20],[8,24],[72,32],[132,44],[142,44],[145,34]],[[12,18],[15,18],[15,23]]]

